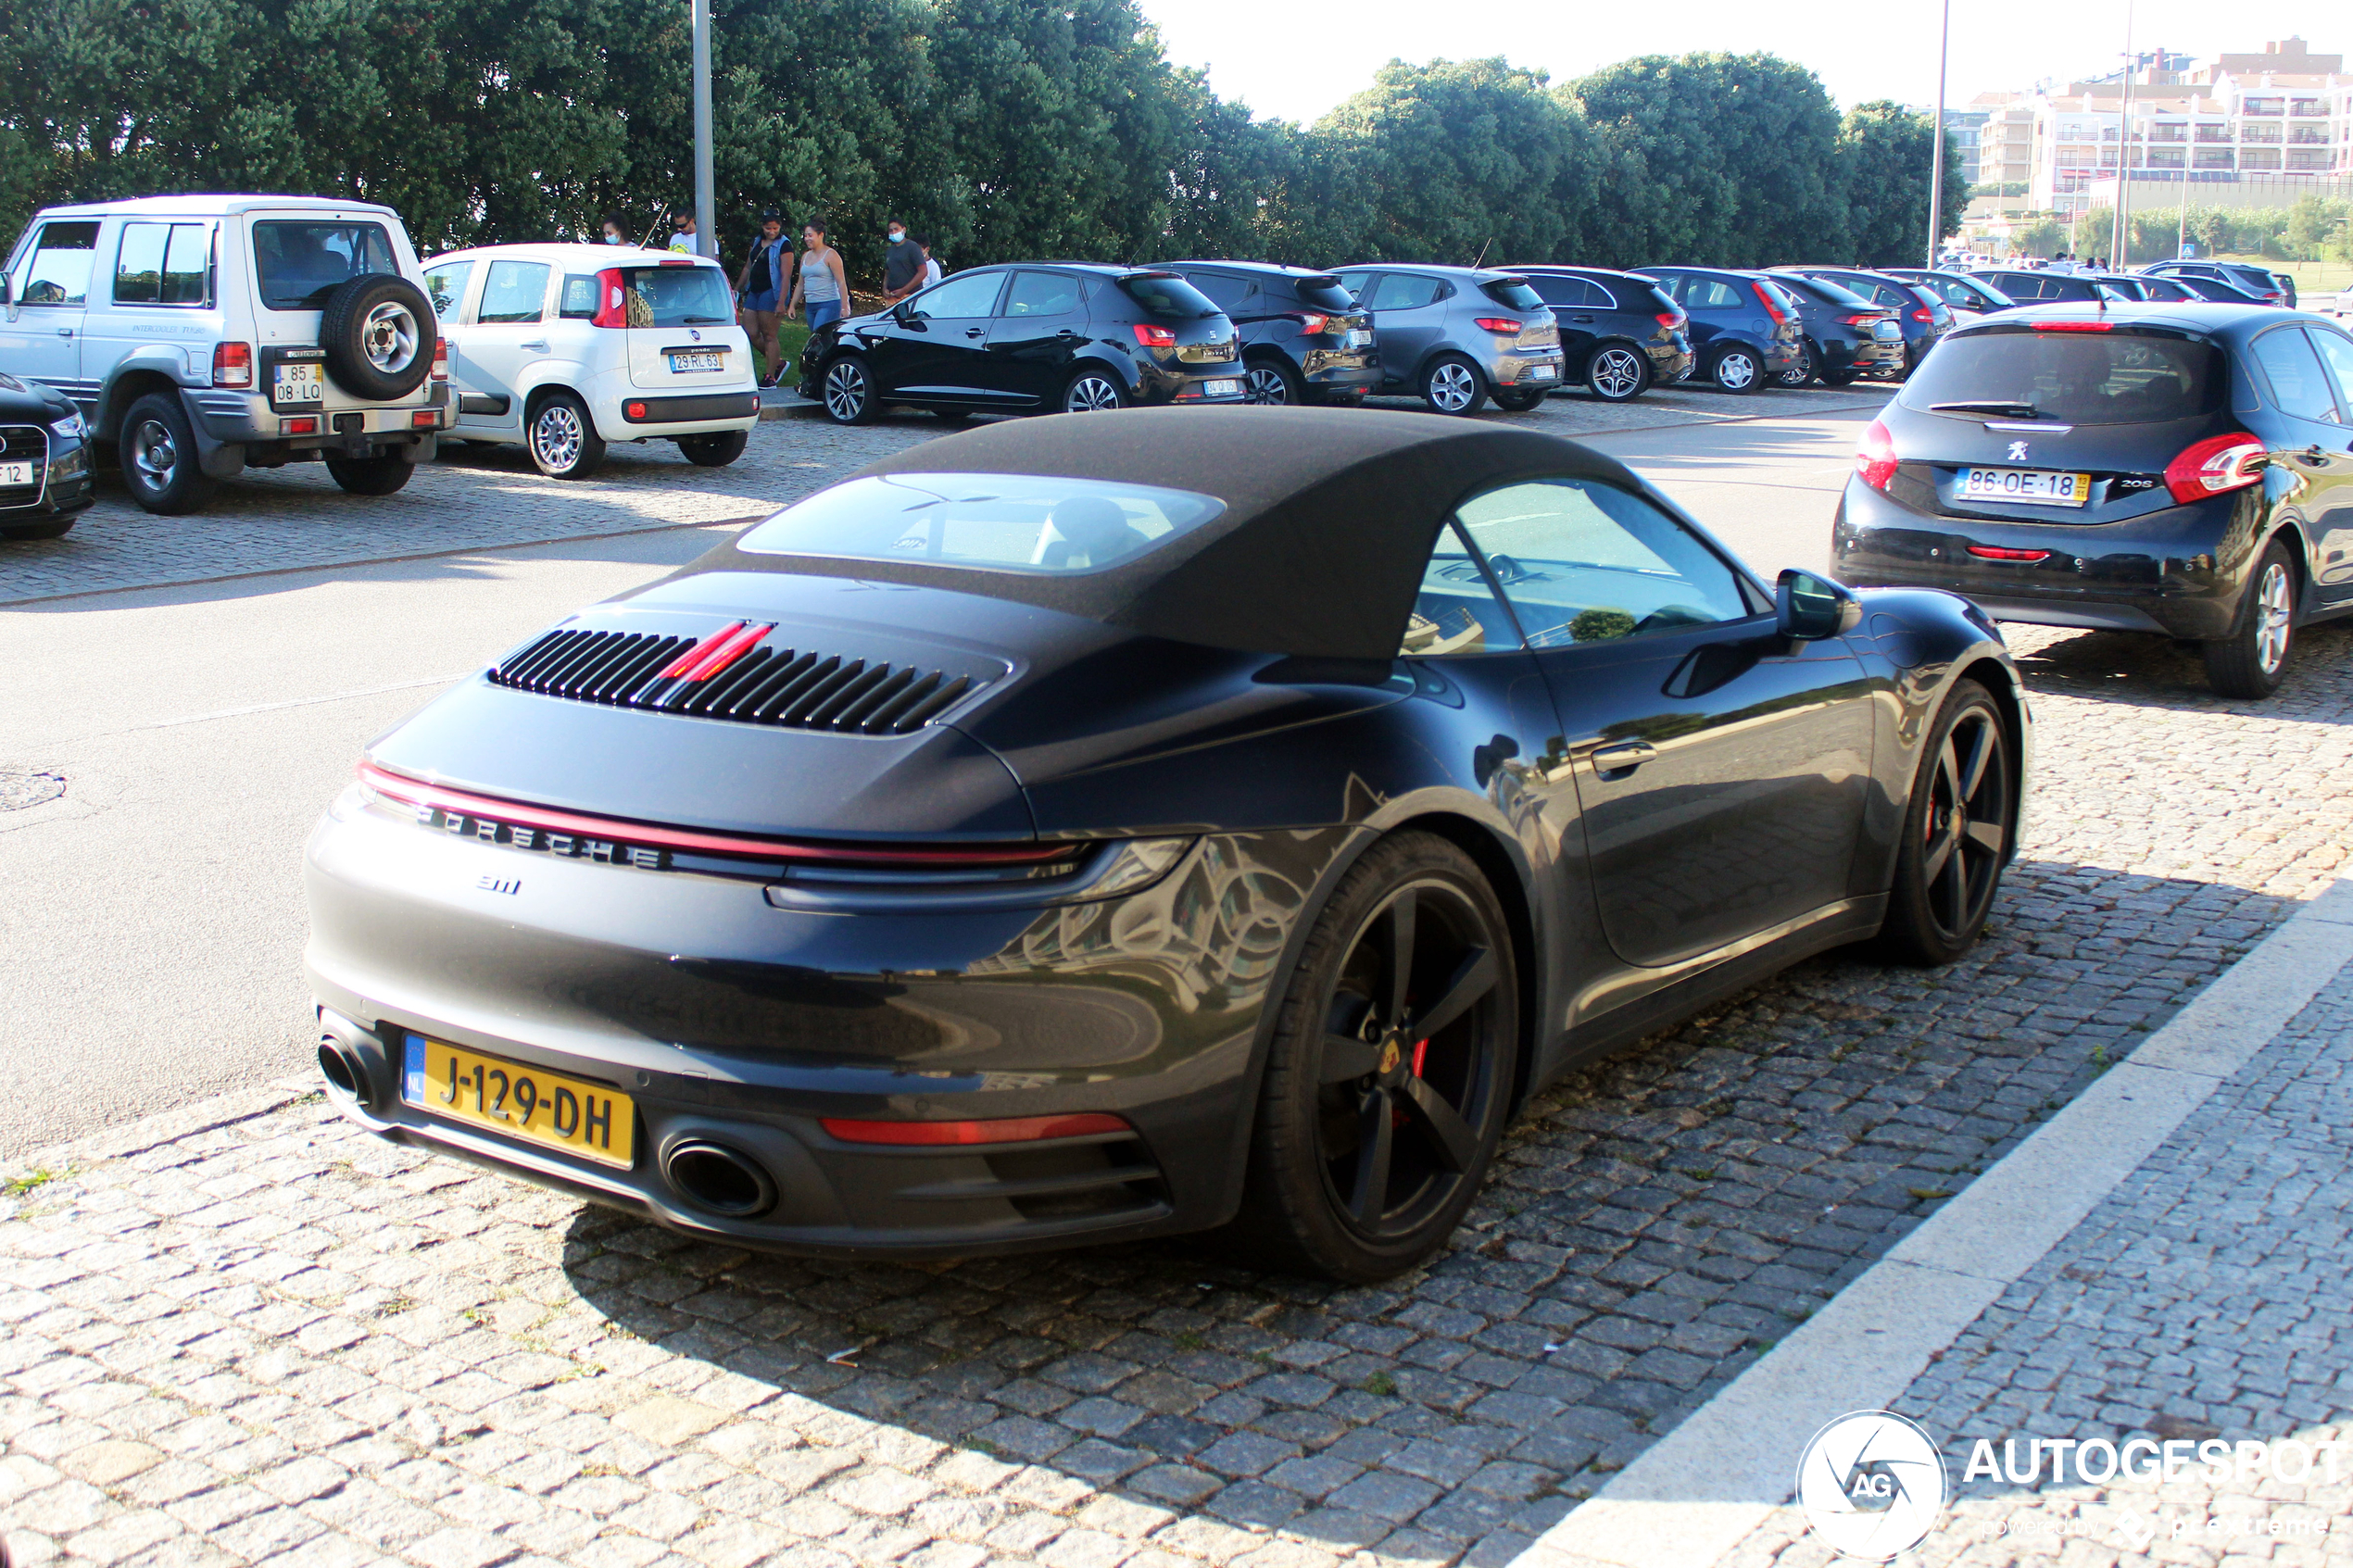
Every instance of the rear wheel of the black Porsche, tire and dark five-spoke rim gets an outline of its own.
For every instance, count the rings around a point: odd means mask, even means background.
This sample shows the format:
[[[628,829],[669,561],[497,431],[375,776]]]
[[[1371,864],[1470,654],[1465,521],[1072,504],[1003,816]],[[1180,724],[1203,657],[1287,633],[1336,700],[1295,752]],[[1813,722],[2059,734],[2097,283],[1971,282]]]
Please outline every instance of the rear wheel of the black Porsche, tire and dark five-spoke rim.
[[[1424,1262],[1504,1140],[1518,1051],[1511,924],[1485,875],[1433,832],[1374,844],[1315,917],[1280,1001],[1231,1227],[1240,1251],[1355,1284]]]

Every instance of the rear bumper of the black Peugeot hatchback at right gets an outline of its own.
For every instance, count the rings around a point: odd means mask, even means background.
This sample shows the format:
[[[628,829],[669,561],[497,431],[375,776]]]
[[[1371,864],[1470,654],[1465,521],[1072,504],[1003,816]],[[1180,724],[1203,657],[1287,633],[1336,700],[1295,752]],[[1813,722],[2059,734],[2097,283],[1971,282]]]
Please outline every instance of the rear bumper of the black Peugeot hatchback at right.
[[[2259,496],[2259,491],[2254,491]],[[1998,621],[2167,637],[2228,637],[2247,590],[2257,505],[2247,491],[2132,522],[2066,524],[1915,512],[1847,480],[1831,524],[1831,571],[1859,588],[1944,588]],[[1969,545],[2047,550],[1995,562]]]

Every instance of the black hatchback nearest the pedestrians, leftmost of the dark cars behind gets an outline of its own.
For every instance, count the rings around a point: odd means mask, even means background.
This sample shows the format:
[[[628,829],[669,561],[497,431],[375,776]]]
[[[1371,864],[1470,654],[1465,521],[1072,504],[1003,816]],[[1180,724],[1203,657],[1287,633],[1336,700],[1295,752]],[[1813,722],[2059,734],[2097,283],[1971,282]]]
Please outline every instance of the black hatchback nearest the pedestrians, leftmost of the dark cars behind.
[[[904,402],[967,414],[1087,414],[1242,402],[1233,322],[1176,273],[1012,261],[809,334],[800,390],[861,425]]]

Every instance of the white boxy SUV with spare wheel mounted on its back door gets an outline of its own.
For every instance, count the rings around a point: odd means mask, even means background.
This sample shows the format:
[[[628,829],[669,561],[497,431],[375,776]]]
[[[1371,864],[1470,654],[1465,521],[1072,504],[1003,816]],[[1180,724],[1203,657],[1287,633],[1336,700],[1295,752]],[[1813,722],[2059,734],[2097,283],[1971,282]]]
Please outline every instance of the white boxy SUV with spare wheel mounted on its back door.
[[[315,458],[388,496],[433,456],[449,402],[400,216],[306,195],[35,214],[0,275],[0,371],[80,404],[151,512]]]

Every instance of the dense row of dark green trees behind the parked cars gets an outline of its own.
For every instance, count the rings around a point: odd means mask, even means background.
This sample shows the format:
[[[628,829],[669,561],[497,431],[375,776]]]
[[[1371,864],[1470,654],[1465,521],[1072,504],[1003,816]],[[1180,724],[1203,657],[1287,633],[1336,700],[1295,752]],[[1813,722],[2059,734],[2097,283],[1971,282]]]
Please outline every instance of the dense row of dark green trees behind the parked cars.
[[[713,0],[720,235],[887,216],[1005,256],[1897,261],[1929,127],[1840,122],[1767,54],[1569,85],[1391,61],[1313,127],[1172,66],[1134,0]],[[692,202],[678,0],[52,0],[0,9],[0,230],[40,205],[296,190],[398,207],[419,247],[656,233]],[[1958,181],[1958,174],[1953,176]],[[1958,228],[1960,186],[1946,202]]]

